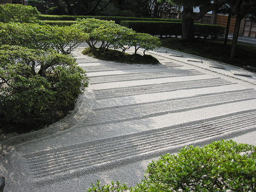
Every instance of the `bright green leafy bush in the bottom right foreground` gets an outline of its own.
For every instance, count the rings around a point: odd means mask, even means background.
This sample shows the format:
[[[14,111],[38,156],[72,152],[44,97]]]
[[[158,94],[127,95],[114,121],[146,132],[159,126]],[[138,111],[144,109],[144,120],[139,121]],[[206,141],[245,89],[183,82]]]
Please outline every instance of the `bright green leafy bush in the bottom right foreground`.
[[[88,191],[256,191],[255,167],[256,146],[222,140],[163,155],[136,187],[98,182]]]

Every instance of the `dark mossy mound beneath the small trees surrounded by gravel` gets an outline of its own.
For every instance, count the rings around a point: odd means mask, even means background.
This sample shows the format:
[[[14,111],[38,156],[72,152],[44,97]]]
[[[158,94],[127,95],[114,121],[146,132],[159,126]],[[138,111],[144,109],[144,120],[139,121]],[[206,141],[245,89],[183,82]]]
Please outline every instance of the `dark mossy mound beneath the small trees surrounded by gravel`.
[[[123,54],[120,51],[109,49],[108,51],[100,52],[98,48],[93,50],[93,54],[90,52],[90,48],[86,48],[82,51],[84,55],[93,56],[101,60],[109,60],[115,62],[124,63],[136,63],[136,64],[152,64],[157,65],[159,61],[151,55],[139,55],[139,54]]]

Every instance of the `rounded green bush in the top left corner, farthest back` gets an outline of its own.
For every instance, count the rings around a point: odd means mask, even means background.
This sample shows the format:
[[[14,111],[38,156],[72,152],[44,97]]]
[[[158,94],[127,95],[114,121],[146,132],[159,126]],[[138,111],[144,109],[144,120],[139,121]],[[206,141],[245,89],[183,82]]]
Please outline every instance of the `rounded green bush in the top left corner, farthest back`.
[[[35,7],[20,4],[0,5],[0,22],[38,23],[40,12]]]

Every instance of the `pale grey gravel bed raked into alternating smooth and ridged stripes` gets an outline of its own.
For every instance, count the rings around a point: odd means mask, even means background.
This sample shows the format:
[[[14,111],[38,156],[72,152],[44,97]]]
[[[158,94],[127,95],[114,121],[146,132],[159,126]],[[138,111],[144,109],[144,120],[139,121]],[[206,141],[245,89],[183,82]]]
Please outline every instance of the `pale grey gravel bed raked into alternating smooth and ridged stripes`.
[[[256,145],[255,73],[165,48],[147,52],[156,66],[102,61],[82,55],[85,46],[72,52],[90,78],[74,111],[46,129],[1,135],[4,191],[134,186],[148,163],[182,146]]]

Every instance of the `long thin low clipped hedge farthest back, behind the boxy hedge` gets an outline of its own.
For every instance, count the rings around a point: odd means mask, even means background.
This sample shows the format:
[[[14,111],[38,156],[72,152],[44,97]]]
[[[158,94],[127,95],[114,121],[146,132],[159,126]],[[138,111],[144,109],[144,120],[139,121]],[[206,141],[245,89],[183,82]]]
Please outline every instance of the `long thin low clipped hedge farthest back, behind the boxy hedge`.
[[[116,24],[120,24],[121,20],[147,20],[147,21],[168,21],[180,22],[179,19],[163,19],[163,18],[140,18],[140,17],[120,17],[120,16],[72,16],[72,15],[39,15],[40,20],[76,20],[77,18],[96,18],[100,20],[114,20]]]

